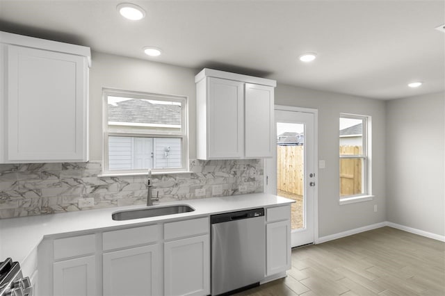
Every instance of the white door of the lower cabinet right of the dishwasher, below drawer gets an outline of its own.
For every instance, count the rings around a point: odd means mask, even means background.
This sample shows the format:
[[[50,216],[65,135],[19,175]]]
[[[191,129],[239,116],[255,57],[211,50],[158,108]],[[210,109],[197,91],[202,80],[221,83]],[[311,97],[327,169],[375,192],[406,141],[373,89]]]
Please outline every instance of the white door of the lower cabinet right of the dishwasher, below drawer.
[[[266,224],[266,276],[291,268],[291,221]]]

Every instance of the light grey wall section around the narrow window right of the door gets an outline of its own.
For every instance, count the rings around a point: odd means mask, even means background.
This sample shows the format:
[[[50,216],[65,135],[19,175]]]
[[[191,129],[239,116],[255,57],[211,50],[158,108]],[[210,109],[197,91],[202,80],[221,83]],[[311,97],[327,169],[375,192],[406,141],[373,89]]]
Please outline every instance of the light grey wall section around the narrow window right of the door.
[[[278,84],[275,104],[318,109],[318,158],[326,163],[318,170],[318,236],[386,221],[385,101]],[[372,116],[372,201],[339,205],[340,113]]]

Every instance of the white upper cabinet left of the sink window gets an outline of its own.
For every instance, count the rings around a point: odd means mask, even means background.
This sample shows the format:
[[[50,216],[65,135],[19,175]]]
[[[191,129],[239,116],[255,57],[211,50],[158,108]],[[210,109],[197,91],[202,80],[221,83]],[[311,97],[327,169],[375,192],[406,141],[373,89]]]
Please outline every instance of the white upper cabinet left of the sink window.
[[[88,161],[90,49],[0,34],[0,163]]]

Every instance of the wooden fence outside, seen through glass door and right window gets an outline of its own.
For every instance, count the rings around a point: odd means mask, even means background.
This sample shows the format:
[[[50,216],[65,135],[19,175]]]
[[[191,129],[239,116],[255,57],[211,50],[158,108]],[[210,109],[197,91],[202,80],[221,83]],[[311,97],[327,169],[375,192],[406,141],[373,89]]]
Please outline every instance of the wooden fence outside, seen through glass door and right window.
[[[359,154],[358,146],[341,146],[341,154]],[[304,146],[277,146],[277,189],[303,195]],[[340,195],[362,192],[362,160],[340,161]]]

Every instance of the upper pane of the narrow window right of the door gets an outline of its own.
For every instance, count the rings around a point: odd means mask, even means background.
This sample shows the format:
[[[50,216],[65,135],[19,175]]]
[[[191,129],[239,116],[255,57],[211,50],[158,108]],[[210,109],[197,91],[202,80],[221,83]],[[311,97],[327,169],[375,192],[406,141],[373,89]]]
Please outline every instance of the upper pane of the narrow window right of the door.
[[[340,155],[363,154],[363,120],[340,117]]]

